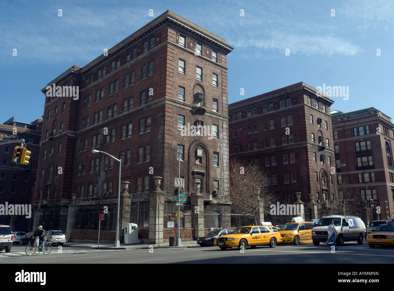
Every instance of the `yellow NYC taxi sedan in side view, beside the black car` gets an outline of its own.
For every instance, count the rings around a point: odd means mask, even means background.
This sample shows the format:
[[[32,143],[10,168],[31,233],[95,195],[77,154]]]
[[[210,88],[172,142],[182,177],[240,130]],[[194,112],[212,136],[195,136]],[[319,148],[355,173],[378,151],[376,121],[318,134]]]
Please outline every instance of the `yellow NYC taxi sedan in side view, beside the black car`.
[[[236,247],[245,249],[248,246],[255,248],[256,246],[267,244],[270,248],[275,248],[277,243],[281,241],[282,238],[279,232],[274,232],[267,226],[249,225],[236,228],[228,235],[217,237],[214,245],[218,246],[221,250]]]

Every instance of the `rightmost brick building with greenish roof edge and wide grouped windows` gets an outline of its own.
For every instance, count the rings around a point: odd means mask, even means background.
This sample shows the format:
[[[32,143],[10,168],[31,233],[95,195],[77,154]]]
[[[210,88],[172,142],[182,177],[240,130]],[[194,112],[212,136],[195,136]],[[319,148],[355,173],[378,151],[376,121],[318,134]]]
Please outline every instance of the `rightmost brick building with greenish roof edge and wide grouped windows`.
[[[347,200],[346,208],[360,213],[366,207],[370,213],[380,206],[380,219],[394,216],[391,118],[373,107],[335,111],[331,116],[336,164],[346,164],[337,166],[338,190]]]

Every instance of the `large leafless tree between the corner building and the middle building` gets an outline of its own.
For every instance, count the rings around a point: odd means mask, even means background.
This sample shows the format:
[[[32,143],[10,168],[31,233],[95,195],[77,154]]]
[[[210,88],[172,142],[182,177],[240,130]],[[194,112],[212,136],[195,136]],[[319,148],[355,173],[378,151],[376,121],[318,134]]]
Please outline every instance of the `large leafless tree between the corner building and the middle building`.
[[[260,170],[259,166],[244,164],[241,160],[230,160],[230,200],[245,215],[249,215],[256,223],[256,212],[262,200],[263,205],[269,205],[273,201],[270,191],[270,181],[267,173]],[[260,194],[256,194],[255,188],[260,188]]]

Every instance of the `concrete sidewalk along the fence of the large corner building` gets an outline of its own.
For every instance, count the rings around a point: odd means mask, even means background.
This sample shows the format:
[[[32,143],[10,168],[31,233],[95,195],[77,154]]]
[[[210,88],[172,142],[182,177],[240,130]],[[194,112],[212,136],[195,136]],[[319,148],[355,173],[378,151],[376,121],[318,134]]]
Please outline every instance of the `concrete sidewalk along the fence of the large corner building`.
[[[73,247],[73,248],[91,248],[91,249],[97,249],[97,250],[138,250],[138,249],[144,249],[144,248],[150,248],[153,246],[154,248],[199,248],[199,244],[197,244],[197,241],[182,241],[181,246],[169,246],[169,242],[162,242],[159,244],[146,244],[146,243],[140,243],[140,244],[120,244],[119,247],[113,246],[114,244],[104,244],[100,243],[99,246],[97,246],[97,243],[93,242],[65,242],[63,247]]]

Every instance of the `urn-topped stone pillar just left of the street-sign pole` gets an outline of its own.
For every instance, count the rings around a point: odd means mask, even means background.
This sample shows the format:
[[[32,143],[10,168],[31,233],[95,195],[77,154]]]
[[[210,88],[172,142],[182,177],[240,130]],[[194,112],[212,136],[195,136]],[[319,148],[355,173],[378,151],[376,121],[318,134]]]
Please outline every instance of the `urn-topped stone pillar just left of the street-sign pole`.
[[[149,192],[151,201],[149,203],[148,243],[150,244],[163,242],[164,194],[165,192],[161,191],[160,188],[156,188],[154,192]]]

